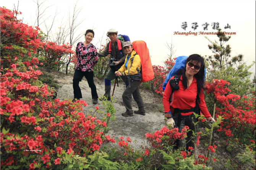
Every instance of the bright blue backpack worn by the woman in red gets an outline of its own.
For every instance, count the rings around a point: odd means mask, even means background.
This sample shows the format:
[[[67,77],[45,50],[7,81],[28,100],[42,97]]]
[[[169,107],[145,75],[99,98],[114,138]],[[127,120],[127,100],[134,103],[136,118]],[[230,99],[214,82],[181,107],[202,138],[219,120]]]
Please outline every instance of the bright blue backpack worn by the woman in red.
[[[178,56],[176,58],[175,64],[172,67],[171,71],[168,73],[168,75],[165,78],[165,81],[163,83],[163,91],[165,90],[165,87],[167,85],[167,83],[169,82],[169,80],[178,73],[178,71],[185,69],[186,67],[186,59],[188,58],[188,56]],[[205,80],[205,76],[206,76],[206,68],[204,68],[204,80]]]

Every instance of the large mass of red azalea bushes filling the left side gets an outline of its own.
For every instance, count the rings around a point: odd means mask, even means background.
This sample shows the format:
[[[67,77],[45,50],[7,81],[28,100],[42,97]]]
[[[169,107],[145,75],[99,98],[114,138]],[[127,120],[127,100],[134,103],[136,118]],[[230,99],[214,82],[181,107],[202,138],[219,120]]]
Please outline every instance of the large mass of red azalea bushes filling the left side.
[[[71,46],[41,42],[39,28],[17,20],[17,11],[0,7],[0,12],[4,44],[0,60],[1,169],[10,165],[22,165],[11,168],[24,169],[55,168],[65,153],[87,156],[99,150],[103,142],[115,143],[101,131],[110,117],[87,116],[83,112],[85,101],[52,99],[51,88],[38,80],[42,72],[36,70],[39,61],[32,55],[45,47],[49,64],[54,58],[59,60],[71,53]],[[56,157],[60,158],[54,160]]]

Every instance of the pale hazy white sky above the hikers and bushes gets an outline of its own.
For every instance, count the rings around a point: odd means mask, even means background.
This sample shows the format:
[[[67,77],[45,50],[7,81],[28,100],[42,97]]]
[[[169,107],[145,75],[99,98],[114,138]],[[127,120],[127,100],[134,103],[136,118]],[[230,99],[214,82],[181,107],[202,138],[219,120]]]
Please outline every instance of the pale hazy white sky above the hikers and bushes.
[[[42,2],[42,1],[41,1]],[[69,10],[73,10],[76,1],[47,0],[42,9],[47,8],[45,18],[51,22],[55,11],[57,17],[53,27],[60,27],[60,22],[68,19]],[[13,9],[18,0],[2,1],[1,6]],[[235,32],[228,44],[232,48],[232,56],[243,54],[245,61],[251,64],[255,61],[255,0],[202,0],[202,1],[165,1],[165,0],[78,0],[82,8],[78,21],[81,22],[78,32],[94,29],[95,37],[92,43],[99,45],[99,39],[107,38],[110,28],[118,33],[128,35],[131,41],[144,40],[152,56],[152,64],[162,65],[170,52],[166,42],[173,43],[175,56],[212,55],[207,45],[209,37],[217,40],[216,35],[199,35],[199,32],[217,32],[212,29],[212,22],[219,22],[219,27],[225,32]],[[36,3],[32,0],[20,0],[19,11],[23,22],[33,25],[36,20]],[[182,22],[187,23],[186,30],[181,28]],[[197,22],[197,29],[191,24]],[[202,24],[207,22],[207,30]],[[230,28],[224,29],[227,24]],[[44,30],[44,24],[39,26]],[[197,35],[173,35],[174,32],[195,32]],[[80,38],[84,41],[84,37]],[[255,65],[252,71],[255,73]]]

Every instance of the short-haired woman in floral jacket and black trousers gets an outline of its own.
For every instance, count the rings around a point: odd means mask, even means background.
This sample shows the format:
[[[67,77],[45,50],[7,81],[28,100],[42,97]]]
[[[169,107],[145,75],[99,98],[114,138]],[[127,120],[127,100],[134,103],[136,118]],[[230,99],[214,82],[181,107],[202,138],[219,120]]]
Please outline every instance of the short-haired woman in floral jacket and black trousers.
[[[91,29],[86,30],[85,41],[79,42],[76,46],[76,57],[77,63],[75,68],[75,74],[73,78],[73,89],[74,89],[74,99],[82,98],[81,89],[79,87],[79,82],[86,78],[92,93],[92,103],[98,103],[98,95],[96,91],[96,86],[93,81],[93,66],[98,62],[97,48],[91,43],[94,37],[94,31]]]

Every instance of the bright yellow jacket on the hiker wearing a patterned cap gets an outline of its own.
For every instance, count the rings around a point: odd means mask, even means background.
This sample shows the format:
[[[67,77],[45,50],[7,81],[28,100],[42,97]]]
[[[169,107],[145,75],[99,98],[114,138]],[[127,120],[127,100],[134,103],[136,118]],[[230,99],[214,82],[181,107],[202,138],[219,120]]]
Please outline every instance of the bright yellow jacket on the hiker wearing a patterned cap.
[[[122,75],[134,75],[134,74],[137,74],[138,71],[137,71],[137,68],[138,70],[140,71],[141,70],[141,58],[139,57],[139,55],[135,55],[136,54],[136,51],[133,50],[133,52],[131,52],[131,56],[128,60],[128,64],[127,64],[127,69],[125,67],[125,64],[126,64],[126,61],[127,61],[127,55],[126,55],[126,58],[125,58],[125,63],[123,64],[123,66],[118,70],[119,72],[122,73]],[[133,64],[131,66],[131,58],[133,58]],[[130,68],[131,67],[131,68]],[[129,68],[130,68],[130,71],[129,71]],[[129,71],[129,74],[128,74],[128,71]]]

